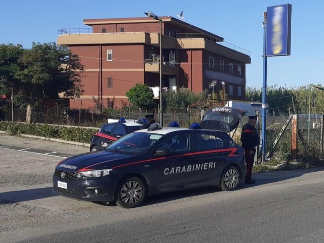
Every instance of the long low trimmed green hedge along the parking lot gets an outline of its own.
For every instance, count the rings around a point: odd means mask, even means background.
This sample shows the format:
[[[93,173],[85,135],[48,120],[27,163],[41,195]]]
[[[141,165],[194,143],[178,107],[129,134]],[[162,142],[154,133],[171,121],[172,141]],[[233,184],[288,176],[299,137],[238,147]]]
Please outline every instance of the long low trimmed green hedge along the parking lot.
[[[0,121],[0,130],[6,131],[10,135],[23,133],[87,144],[90,143],[92,134],[98,131],[97,129],[53,126],[48,124],[24,124],[4,121]]]

